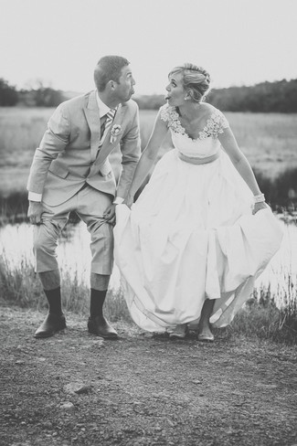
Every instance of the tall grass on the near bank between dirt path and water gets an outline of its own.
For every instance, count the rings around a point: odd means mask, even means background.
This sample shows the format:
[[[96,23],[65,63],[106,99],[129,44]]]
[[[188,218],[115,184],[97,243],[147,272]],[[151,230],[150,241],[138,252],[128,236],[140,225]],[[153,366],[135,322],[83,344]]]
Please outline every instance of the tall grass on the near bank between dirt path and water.
[[[89,313],[89,288],[80,282],[78,274],[61,271],[62,303],[66,312]],[[270,290],[261,290],[260,298],[255,290],[248,303],[235,316],[227,328],[228,334],[246,335],[276,342],[293,344],[297,342],[297,294],[292,276],[287,278],[288,300],[280,308]],[[0,297],[9,305],[27,309],[46,311],[48,305],[40,281],[27,260],[11,267],[5,260],[0,260]],[[105,314],[111,321],[132,323],[131,316],[122,296],[121,289],[108,292]]]

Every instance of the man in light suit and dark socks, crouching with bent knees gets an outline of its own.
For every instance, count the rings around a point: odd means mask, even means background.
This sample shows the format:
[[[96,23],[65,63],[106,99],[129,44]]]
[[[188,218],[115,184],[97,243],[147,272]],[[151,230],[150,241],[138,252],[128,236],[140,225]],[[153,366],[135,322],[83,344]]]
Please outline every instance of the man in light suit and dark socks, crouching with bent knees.
[[[126,58],[101,58],[94,80],[97,90],[61,103],[51,116],[28,178],[36,271],[49,308],[37,338],[66,327],[56,247],[70,211],[90,232],[89,332],[118,337],[102,307],[113,262],[115,206],[122,203],[140,156],[139,114],[130,101],[135,81]]]

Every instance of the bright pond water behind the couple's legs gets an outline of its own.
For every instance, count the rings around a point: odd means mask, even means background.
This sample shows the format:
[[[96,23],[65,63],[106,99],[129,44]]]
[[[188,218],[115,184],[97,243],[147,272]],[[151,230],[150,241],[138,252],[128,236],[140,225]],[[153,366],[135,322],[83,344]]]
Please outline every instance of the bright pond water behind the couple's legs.
[[[285,223],[280,219],[284,229],[281,250],[270,261],[270,265],[260,275],[256,289],[268,289],[277,296],[281,305],[288,292],[296,295],[297,290],[297,226],[294,221]],[[32,254],[32,227],[27,223],[6,225],[0,228],[0,254],[4,256],[9,267],[21,267],[24,260],[34,264]],[[78,280],[89,285],[90,277],[90,235],[83,223],[68,225],[63,231],[58,245],[58,262],[63,271],[77,275]],[[289,280],[292,284],[289,290]],[[117,268],[111,275],[111,288],[120,287],[120,273]]]

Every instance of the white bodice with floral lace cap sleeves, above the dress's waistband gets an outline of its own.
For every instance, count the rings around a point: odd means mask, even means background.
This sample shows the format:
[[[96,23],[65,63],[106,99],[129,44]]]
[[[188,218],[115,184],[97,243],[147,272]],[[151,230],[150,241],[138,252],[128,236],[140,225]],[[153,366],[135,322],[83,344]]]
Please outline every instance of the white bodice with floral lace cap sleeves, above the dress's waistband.
[[[191,138],[179,121],[179,115],[175,107],[164,104],[161,109],[161,119],[167,123],[172,134],[175,148],[186,155],[204,157],[216,154],[220,148],[217,139],[219,133],[224,133],[228,128],[228,121],[219,110],[215,111],[207,119],[207,124],[196,139]]]

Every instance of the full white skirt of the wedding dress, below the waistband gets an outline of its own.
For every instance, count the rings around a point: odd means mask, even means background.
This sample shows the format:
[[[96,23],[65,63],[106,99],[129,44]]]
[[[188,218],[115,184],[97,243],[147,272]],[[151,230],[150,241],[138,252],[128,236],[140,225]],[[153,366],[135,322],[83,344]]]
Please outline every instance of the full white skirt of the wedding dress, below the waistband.
[[[215,300],[211,324],[230,324],[281,245],[270,207],[252,215],[252,203],[223,150],[203,165],[164,154],[132,209],[116,207],[115,263],[136,324],[197,323],[206,299]]]

